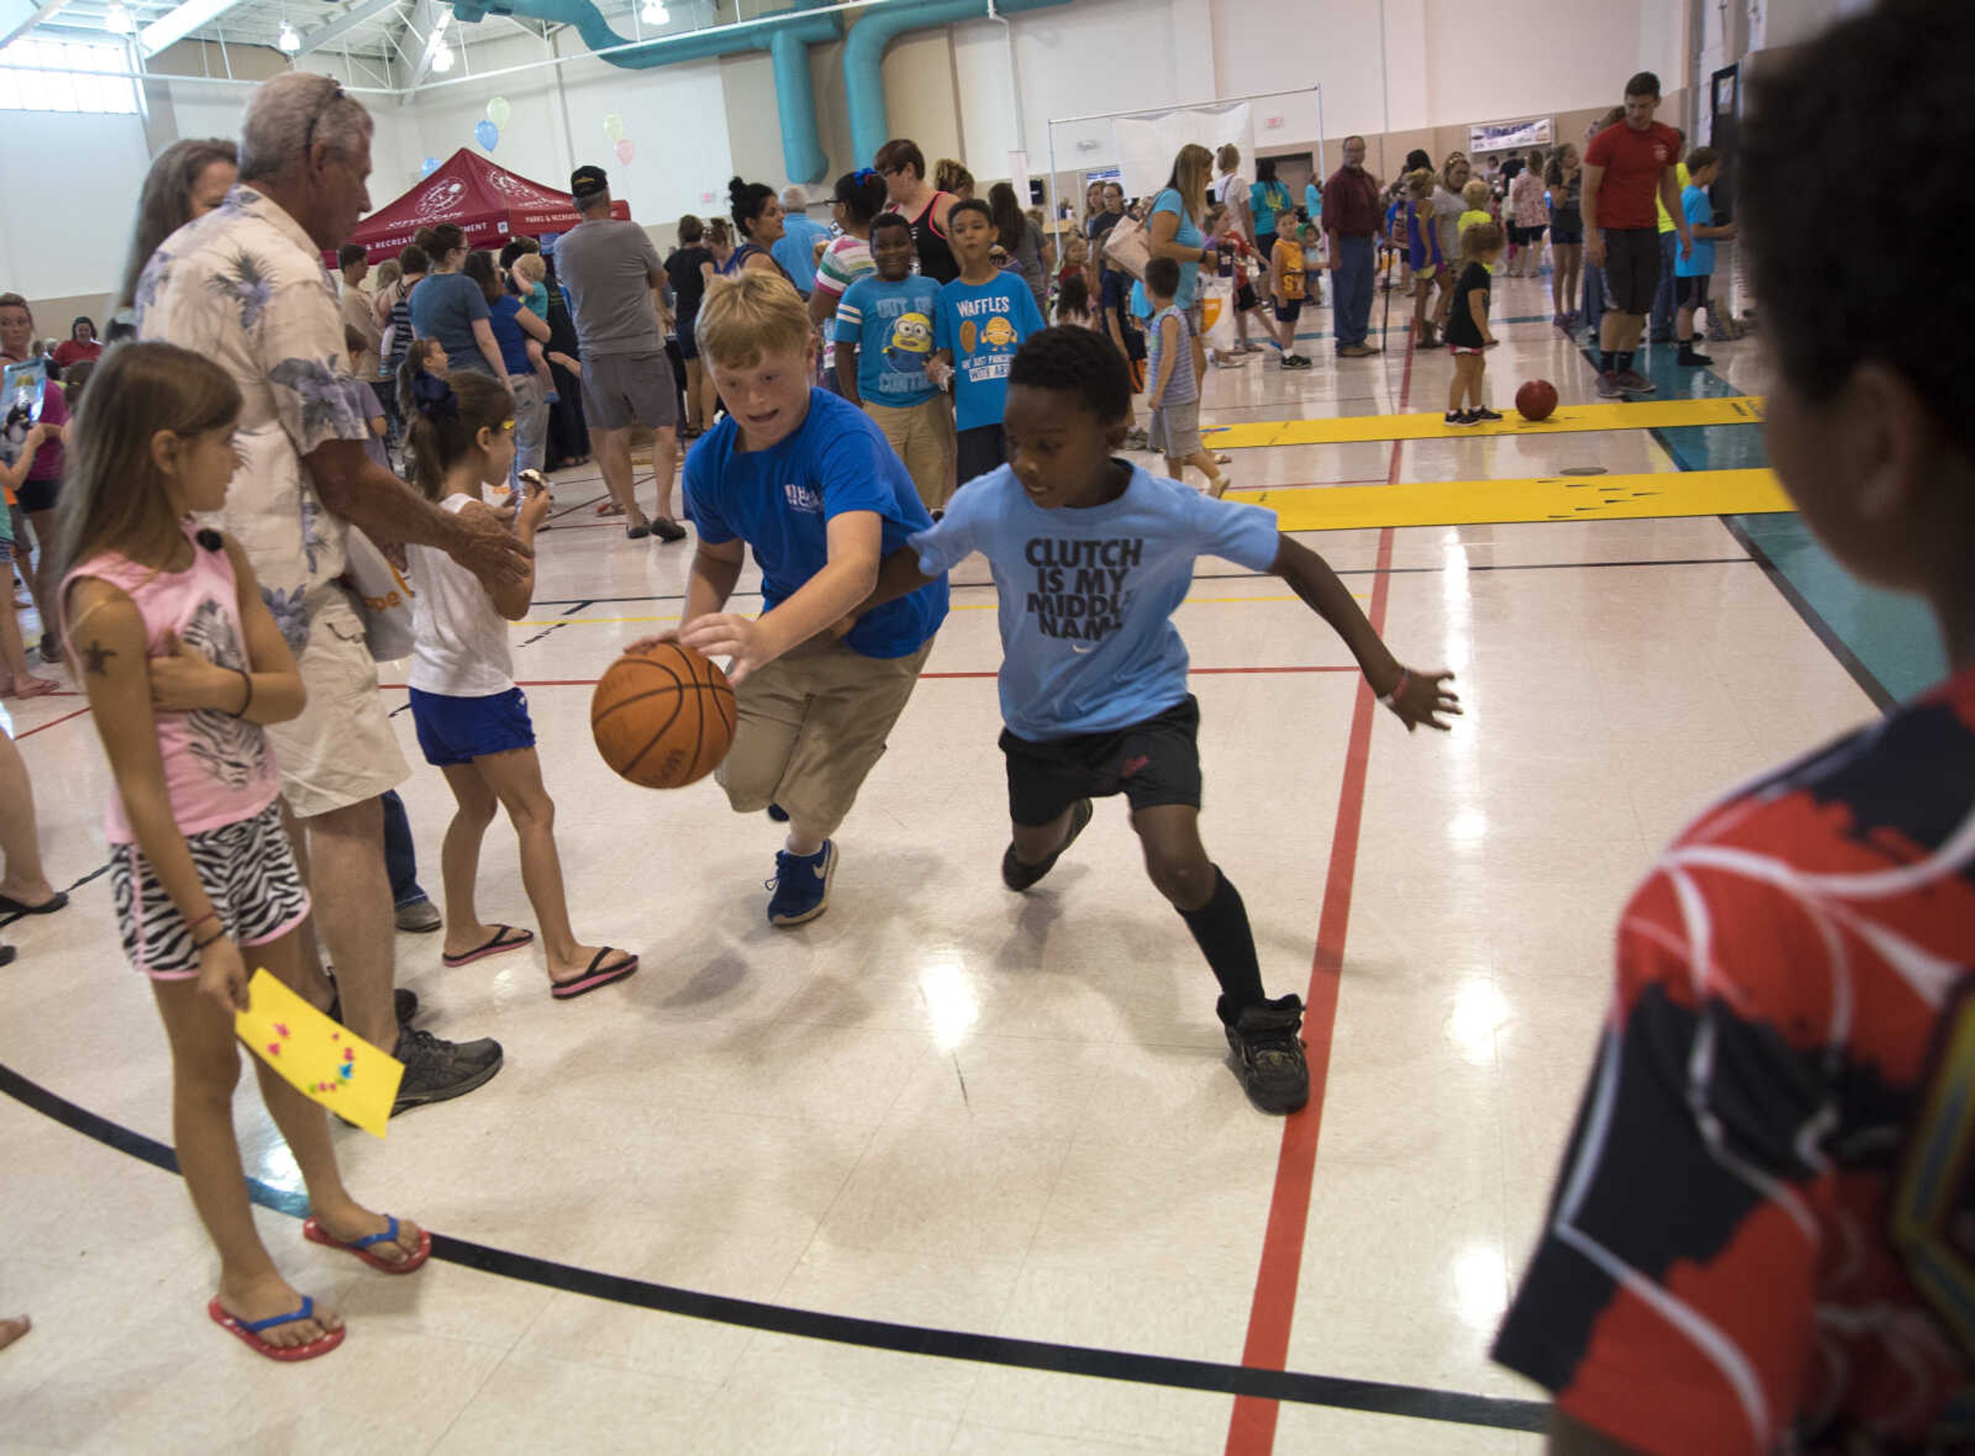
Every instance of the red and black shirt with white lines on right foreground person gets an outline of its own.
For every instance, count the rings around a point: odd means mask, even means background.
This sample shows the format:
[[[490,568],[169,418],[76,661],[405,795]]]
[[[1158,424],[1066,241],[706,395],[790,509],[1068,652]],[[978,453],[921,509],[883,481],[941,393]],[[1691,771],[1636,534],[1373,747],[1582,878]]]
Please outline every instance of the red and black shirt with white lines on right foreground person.
[[[1643,1452],[1975,1450],[1971,969],[1975,669],[1639,886],[1495,1359]]]

